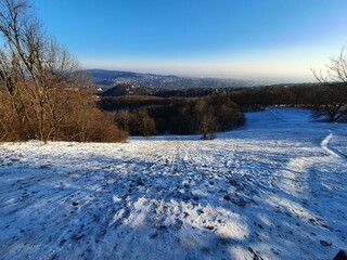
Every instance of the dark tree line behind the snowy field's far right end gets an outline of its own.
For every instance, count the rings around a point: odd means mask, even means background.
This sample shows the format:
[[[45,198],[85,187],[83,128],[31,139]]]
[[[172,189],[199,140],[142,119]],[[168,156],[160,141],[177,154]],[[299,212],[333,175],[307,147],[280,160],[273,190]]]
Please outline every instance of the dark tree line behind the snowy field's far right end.
[[[329,122],[347,121],[347,87],[343,82],[245,89],[233,93],[232,100],[243,112],[268,106],[295,106],[311,108]]]

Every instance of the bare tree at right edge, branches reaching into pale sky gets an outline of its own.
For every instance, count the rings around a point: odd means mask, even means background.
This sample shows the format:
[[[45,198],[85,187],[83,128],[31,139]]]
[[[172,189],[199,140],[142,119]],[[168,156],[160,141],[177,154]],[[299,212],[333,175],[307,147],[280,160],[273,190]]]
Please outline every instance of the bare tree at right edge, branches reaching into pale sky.
[[[319,98],[319,108],[327,115],[329,121],[338,121],[347,115],[347,47],[330,58],[325,72],[312,70],[323,87]]]

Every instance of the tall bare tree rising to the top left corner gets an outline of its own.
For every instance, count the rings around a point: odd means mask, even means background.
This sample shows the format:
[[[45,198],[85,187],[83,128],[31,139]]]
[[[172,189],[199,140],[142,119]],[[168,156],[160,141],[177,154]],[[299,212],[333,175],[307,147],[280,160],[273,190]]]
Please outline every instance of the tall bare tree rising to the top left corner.
[[[46,35],[28,1],[1,0],[0,8],[0,78],[29,134],[47,142],[62,121],[56,94],[74,87],[78,64]]]

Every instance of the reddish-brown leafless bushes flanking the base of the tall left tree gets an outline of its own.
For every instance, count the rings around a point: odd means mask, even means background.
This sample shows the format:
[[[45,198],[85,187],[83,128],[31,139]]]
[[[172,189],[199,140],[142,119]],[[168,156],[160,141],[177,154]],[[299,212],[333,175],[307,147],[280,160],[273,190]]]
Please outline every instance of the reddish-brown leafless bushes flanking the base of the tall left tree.
[[[0,141],[25,141],[38,135],[35,130],[39,128],[21,120],[3,90],[0,101]],[[46,129],[51,129],[46,141],[124,142],[128,135],[114,123],[111,113],[97,107],[88,89],[61,89],[52,94],[51,102],[54,120],[46,121]]]

